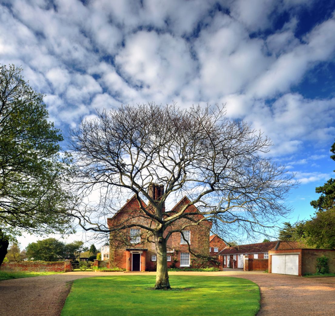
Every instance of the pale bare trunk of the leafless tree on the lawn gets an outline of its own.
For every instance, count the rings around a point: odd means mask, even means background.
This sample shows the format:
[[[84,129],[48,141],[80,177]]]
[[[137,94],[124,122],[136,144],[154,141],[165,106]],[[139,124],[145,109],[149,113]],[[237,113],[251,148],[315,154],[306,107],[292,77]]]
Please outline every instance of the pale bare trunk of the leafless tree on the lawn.
[[[163,234],[159,233],[154,236],[157,252],[157,272],[155,289],[170,289],[169,274],[167,273],[166,262],[166,240]]]

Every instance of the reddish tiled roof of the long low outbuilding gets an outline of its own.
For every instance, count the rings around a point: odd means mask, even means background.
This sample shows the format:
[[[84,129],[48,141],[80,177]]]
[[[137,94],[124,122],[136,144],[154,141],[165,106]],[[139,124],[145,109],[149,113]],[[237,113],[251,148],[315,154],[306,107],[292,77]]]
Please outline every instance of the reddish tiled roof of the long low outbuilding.
[[[227,247],[221,250],[219,255],[247,254],[247,253],[264,253],[270,250],[288,250],[306,248],[303,243],[297,241],[270,241],[266,243],[257,243],[249,245],[239,245]]]

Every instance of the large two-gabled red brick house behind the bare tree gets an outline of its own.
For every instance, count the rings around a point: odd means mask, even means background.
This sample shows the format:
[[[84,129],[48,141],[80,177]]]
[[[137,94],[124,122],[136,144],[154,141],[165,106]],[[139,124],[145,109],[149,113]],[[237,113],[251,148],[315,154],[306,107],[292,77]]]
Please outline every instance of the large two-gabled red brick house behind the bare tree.
[[[161,196],[164,188],[162,185],[154,185],[149,194],[155,199],[155,196]],[[189,203],[189,199],[183,197],[171,212],[177,212],[183,205]],[[143,201],[143,207],[150,209]],[[189,211],[197,211],[194,205],[189,206]],[[170,214],[171,214],[170,212]],[[201,214],[192,215],[196,220],[204,218]],[[138,227],[127,228],[118,232],[110,233],[110,266],[124,268],[127,271],[152,271],[156,269],[156,248],[151,239],[150,232],[141,228],[141,226],[150,227],[150,218],[144,217],[139,210],[139,202],[135,195],[129,199],[126,204],[112,217],[107,219],[109,228],[122,225],[138,224]],[[189,221],[189,226],[188,225]],[[190,253],[187,241],[189,241],[191,252],[197,254],[209,255],[209,232],[212,226],[211,222],[204,220],[199,225],[191,225],[192,221],[183,219],[176,221],[164,233],[164,237],[170,230],[178,230],[182,226],[183,235],[180,232],[174,232],[167,241],[167,264],[168,267],[189,267],[197,265],[197,258]],[[186,225],[186,228],[185,228]]]

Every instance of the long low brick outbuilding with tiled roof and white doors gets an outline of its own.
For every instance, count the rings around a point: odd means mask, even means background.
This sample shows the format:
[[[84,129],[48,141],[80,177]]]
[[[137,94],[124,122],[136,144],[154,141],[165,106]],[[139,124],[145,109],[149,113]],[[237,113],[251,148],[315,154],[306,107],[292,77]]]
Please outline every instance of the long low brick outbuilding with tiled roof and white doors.
[[[227,247],[219,252],[220,267],[243,268],[245,271],[267,270],[269,251],[294,248],[305,248],[305,245],[296,241],[270,241]]]

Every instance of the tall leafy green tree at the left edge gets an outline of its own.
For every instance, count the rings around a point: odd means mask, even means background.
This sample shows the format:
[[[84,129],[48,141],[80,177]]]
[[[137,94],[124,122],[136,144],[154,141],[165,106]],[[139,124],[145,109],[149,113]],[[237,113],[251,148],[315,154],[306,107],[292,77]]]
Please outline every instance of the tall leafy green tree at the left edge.
[[[42,94],[23,80],[21,71],[0,65],[0,229],[11,236],[64,233],[71,217],[66,212],[70,194],[62,181],[70,160],[61,159],[63,137],[48,121]]]

